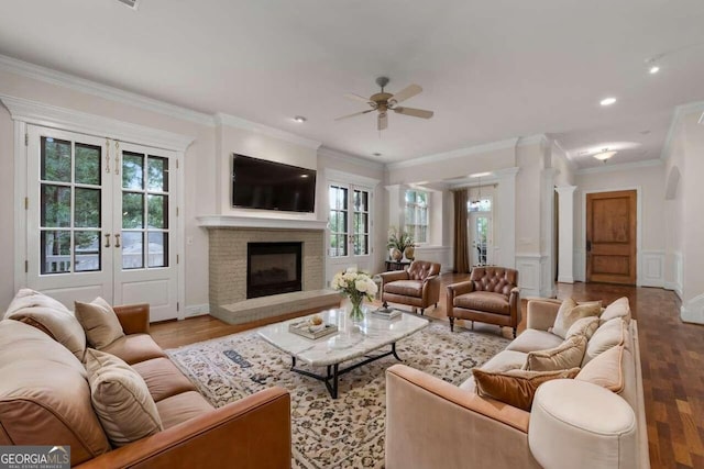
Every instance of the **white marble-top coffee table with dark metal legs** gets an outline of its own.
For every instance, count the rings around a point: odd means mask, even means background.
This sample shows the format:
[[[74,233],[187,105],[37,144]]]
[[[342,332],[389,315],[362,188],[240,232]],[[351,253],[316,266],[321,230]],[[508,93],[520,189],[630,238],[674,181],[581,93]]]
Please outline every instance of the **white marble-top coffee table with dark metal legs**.
[[[338,332],[318,339],[309,339],[288,332],[288,325],[301,321],[301,317],[264,326],[258,331],[266,342],[292,356],[292,371],[305,375],[324,382],[332,399],[338,398],[338,378],[355,368],[380,358],[396,354],[396,342],[427,327],[429,322],[413,314],[402,314],[392,320],[377,317],[371,313],[371,308],[364,314],[364,320],[353,323],[343,309],[328,310],[318,313],[328,324],[337,324]],[[312,316],[312,314],[311,314]],[[309,317],[309,316],[307,316]],[[391,351],[370,356],[371,351],[385,346],[392,346]],[[364,360],[349,367],[340,368],[340,364],[355,358]],[[311,367],[327,367],[326,375],[296,367],[300,360]]]

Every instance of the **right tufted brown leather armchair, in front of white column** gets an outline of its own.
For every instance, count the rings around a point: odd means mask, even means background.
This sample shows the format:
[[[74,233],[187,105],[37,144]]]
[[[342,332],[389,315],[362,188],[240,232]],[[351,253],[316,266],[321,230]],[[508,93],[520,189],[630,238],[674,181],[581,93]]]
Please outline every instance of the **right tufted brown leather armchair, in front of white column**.
[[[454,320],[516,327],[520,322],[518,270],[504,267],[474,267],[470,280],[447,287],[447,312],[450,331]]]

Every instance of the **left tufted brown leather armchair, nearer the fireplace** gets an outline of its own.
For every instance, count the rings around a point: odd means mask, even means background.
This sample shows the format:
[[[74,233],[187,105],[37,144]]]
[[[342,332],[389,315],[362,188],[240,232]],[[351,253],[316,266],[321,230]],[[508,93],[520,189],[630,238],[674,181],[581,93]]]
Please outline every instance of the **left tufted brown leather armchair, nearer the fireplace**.
[[[440,300],[440,264],[426,260],[414,260],[407,270],[384,272],[382,277],[382,300],[384,306],[388,302],[420,308],[424,314],[426,308],[438,305]]]

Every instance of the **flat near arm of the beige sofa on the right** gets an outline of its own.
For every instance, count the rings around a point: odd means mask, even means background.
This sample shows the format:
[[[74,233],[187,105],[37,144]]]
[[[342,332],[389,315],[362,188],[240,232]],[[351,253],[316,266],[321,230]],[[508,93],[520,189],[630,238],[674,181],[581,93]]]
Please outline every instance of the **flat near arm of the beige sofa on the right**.
[[[530,414],[405,365],[386,371],[386,468],[538,467]],[[470,459],[468,459],[468,457]]]

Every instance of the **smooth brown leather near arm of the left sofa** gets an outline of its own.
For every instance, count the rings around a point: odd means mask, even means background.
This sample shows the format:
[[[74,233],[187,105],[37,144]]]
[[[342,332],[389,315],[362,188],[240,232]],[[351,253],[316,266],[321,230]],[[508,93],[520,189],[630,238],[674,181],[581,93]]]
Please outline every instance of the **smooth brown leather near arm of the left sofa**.
[[[290,467],[290,397],[270,388],[77,466]]]

